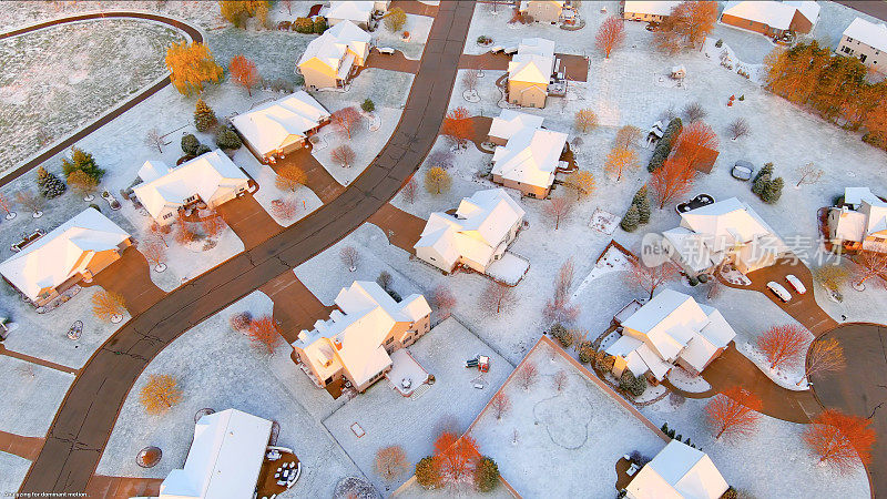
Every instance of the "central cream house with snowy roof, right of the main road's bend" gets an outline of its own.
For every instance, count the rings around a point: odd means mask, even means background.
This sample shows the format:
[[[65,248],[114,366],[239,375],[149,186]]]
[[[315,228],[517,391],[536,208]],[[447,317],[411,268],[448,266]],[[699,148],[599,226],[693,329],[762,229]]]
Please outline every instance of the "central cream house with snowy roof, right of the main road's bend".
[[[503,189],[478,191],[452,213],[431,213],[416,256],[447,273],[458,265],[486,273],[517,237],[523,214]]]

